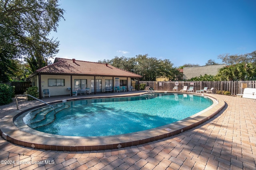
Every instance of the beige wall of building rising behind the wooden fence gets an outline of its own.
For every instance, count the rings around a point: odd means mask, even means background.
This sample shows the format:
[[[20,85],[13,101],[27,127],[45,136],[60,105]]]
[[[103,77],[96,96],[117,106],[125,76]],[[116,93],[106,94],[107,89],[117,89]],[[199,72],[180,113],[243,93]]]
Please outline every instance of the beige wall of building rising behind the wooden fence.
[[[226,64],[210,65],[210,66],[192,66],[183,68],[183,79],[188,80],[204,74],[216,76],[220,68],[225,67]]]

